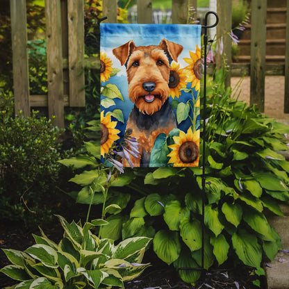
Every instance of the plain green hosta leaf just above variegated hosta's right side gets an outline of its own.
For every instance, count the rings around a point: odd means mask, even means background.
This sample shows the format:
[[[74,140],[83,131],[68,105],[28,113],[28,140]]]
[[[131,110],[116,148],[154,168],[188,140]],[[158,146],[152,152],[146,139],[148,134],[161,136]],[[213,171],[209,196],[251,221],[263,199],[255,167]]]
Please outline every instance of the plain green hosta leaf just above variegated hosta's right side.
[[[101,238],[119,239],[122,236],[122,224],[126,222],[126,218],[122,215],[111,215],[106,220],[109,224],[101,226]]]

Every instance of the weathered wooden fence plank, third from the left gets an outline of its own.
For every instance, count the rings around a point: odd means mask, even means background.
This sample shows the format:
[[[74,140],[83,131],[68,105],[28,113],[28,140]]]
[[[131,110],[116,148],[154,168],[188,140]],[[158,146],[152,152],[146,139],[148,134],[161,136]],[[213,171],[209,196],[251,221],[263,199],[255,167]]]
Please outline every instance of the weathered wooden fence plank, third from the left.
[[[83,0],[67,2],[69,106],[85,106]]]

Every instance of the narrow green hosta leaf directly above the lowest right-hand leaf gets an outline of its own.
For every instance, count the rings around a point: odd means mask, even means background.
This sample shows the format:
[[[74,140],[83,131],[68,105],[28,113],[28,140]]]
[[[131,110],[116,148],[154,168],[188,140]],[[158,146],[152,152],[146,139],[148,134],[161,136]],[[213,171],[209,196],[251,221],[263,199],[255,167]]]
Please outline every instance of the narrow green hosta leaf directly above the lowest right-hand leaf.
[[[251,229],[265,236],[267,241],[274,241],[272,236],[269,235],[269,224],[263,213],[259,213],[256,210],[247,209],[243,212],[243,219],[251,227]]]

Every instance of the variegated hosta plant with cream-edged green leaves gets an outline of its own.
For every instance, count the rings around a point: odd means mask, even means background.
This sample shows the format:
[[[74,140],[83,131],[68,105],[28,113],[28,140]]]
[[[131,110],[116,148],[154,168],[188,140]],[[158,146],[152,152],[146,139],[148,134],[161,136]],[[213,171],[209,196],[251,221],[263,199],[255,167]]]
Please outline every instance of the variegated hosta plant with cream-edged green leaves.
[[[139,276],[149,264],[142,264],[151,239],[129,238],[118,245],[99,239],[90,230],[106,226],[102,219],[70,224],[58,216],[64,236],[58,244],[33,235],[35,245],[25,251],[3,249],[12,265],[1,272],[19,281],[10,287],[22,289],[124,288],[124,281]]]

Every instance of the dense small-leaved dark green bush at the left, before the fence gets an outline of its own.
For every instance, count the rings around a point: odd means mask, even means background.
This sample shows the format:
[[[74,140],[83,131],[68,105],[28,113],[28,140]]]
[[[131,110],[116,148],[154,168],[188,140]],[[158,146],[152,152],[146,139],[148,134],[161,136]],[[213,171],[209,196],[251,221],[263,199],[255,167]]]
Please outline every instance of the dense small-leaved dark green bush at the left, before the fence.
[[[0,217],[39,222],[49,212],[40,201],[58,179],[60,130],[35,112],[13,118],[11,94],[0,97]]]

